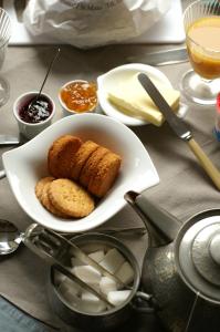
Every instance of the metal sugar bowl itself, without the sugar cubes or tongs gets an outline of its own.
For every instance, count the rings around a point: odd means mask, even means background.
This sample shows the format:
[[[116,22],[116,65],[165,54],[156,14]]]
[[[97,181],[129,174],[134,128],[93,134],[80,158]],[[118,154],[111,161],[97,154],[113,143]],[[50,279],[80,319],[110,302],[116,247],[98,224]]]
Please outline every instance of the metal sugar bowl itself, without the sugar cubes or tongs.
[[[52,268],[49,282],[49,299],[54,312],[66,323],[77,326],[83,331],[107,331],[121,326],[129,319],[135,305],[133,302],[135,302],[137,298],[144,297],[144,299],[149,300],[147,294],[138,292],[140,272],[135,257],[121,241],[104,234],[85,234],[74,238],[73,241],[80,248],[87,248],[90,246],[93,250],[98,250],[98,248],[107,246],[108,248],[116,248],[121,251],[135,271],[132,292],[123,305],[111,308],[99,313],[85,312],[77,307],[71,305],[65,298],[62,297],[55,284],[55,271],[54,268]]]

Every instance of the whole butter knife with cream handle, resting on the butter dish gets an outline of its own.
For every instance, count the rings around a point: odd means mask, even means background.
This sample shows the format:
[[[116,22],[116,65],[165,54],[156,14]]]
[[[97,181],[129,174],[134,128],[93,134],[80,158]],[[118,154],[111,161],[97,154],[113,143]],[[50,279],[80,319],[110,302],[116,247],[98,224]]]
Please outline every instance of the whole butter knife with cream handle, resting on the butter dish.
[[[143,85],[145,91],[149,94],[149,96],[157,105],[159,111],[164,114],[172,131],[177,134],[179,138],[181,138],[189,145],[191,152],[195,154],[200,165],[206,170],[207,175],[211,178],[216,187],[220,190],[219,170],[212,164],[210,158],[205,154],[199,144],[192,138],[192,134],[186,125],[186,123],[172,112],[171,107],[168,105],[164,96],[160,94],[160,92],[157,90],[157,87],[146,74],[138,74],[138,81]]]

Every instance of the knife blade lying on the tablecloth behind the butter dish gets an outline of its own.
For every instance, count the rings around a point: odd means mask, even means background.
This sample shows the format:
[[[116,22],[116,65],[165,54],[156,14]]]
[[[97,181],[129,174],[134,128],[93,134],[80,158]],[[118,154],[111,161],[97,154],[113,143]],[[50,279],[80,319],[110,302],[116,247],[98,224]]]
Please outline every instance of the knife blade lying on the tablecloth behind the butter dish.
[[[127,62],[142,62],[150,65],[168,65],[188,61],[186,48],[149,52],[145,55],[128,56]]]

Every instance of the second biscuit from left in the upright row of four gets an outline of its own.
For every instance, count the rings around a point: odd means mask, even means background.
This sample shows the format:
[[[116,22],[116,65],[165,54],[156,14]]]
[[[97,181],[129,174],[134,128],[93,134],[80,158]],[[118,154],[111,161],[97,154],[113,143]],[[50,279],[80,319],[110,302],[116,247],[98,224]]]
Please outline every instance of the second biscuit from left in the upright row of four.
[[[81,145],[74,156],[73,166],[71,169],[71,178],[78,179],[80,173],[84,167],[87,158],[98,148],[98,145],[92,141],[86,141]]]

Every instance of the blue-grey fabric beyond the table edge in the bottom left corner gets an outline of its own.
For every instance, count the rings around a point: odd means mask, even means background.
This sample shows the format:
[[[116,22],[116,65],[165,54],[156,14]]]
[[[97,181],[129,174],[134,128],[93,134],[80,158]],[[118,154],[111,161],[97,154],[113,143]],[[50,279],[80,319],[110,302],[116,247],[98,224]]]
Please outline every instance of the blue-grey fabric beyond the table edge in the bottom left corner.
[[[59,331],[46,326],[18,307],[0,297],[0,331],[4,332],[52,332]]]

